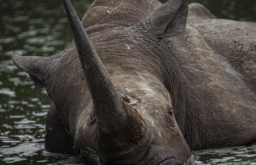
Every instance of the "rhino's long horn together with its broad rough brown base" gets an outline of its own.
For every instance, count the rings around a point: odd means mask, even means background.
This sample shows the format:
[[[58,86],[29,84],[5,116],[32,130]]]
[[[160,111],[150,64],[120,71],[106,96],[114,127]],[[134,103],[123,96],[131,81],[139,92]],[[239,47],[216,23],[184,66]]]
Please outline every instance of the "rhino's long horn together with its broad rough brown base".
[[[97,117],[96,136],[108,161],[123,162],[142,159],[151,143],[150,133],[142,116],[118,95],[101,59],[98,57],[70,0],[63,0],[78,56],[94,102]],[[122,152],[121,152],[122,151]],[[120,154],[122,153],[122,154]]]

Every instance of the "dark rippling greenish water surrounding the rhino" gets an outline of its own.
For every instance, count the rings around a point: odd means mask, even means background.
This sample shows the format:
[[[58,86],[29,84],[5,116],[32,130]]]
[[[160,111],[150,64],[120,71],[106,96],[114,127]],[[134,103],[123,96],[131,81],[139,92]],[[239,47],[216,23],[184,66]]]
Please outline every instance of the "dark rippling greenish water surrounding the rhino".
[[[82,17],[92,1],[74,2]],[[256,22],[254,0],[202,0],[218,17]],[[0,164],[82,164],[46,153],[45,120],[50,100],[10,61],[22,55],[50,56],[70,43],[62,1],[0,0]],[[194,152],[197,164],[256,164],[256,146]]]

